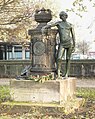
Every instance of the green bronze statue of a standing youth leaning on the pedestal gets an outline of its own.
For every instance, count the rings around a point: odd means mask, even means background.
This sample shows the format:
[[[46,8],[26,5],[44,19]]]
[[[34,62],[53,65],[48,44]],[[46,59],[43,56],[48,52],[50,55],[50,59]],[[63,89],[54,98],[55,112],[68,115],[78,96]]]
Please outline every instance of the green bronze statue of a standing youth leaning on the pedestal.
[[[66,21],[68,17],[67,13],[62,11],[60,12],[59,16],[61,21],[44,26],[42,28],[42,32],[45,33],[48,28],[57,26],[59,32],[59,38],[60,38],[58,54],[57,54],[57,74],[58,74],[58,78],[60,78],[62,57],[66,50],[65,78],[67,78],[70,69],[71,53],[74,51],[75,48],[75,33],[74,33],[73,25]]]

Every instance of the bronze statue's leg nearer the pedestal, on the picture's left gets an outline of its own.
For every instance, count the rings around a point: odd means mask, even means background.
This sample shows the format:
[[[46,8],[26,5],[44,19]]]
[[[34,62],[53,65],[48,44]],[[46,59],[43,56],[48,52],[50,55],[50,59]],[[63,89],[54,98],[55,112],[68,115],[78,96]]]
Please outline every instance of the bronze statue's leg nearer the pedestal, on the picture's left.
[[[60,78],[60,71],[61,71],[61,64],[62,64],[62,57],[64,55],[64,48],[59,46],[58,55],[57,55],[57,75]]]

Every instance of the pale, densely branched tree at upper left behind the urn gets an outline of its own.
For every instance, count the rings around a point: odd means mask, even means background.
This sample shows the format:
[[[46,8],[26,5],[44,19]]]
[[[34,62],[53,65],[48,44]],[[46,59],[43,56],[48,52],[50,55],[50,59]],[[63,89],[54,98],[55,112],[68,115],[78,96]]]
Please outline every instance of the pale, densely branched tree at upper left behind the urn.
[[[57,10],[54,0],[1,0],[0,40],[26,41],[28,29],[36,25],[34,12],[42,7],[50,8],[55,12]]]

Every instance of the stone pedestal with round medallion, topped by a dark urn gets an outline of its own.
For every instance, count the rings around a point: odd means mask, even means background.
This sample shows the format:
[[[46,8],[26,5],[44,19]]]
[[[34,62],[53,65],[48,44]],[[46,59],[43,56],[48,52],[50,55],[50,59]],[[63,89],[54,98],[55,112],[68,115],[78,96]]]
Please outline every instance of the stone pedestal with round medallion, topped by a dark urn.
[[[31,36],[30,57],[32,60],[31,69],[28,74],[32,76],[43,76],[55,74],[56,71],[56,35],[57,29],[48,29],[42,33],[42,28],[52,19],[51,10],[42,8],[35,11],[35,21],[38,26],[28,30]]]

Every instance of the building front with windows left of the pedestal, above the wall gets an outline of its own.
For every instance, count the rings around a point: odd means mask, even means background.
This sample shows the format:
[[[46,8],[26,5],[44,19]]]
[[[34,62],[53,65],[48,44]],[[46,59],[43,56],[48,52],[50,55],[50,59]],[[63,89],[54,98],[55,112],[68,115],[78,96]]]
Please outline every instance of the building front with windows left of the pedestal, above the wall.
[[[0,45],[0,60],[12,59],[30,59],[29,45],[22,47],[22,45]]]

